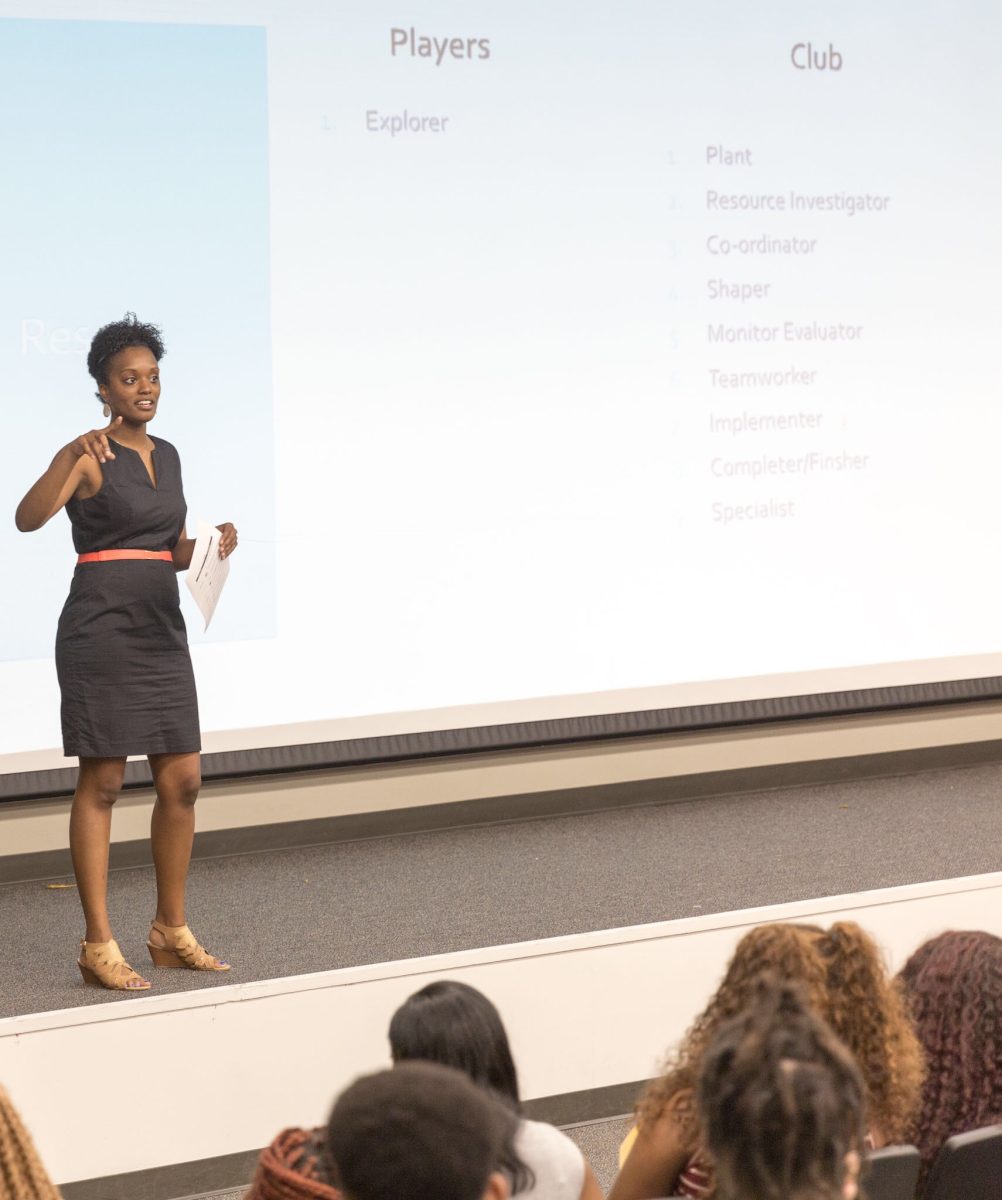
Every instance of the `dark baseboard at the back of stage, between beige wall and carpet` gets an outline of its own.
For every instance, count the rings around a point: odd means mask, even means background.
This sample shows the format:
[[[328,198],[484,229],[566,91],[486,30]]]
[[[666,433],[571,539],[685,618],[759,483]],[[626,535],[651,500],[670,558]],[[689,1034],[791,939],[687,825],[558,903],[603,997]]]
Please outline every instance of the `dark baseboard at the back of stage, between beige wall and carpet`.
[[[648,804],[673,804],[780,787],[806,787],[888,775],[908,775],[992,762],[1002,762],[1002,739],[924,746],[917,750],[893,750],[844,758],[820,758],[810,762],[742,767],[625,784],[601,784],[595,787],[490,796],[449,804],[426,804],[413,809],[386,809],[308,821],[278,821],[271,824],[206,830],[196,834],[193,857],[222,858],[270,850],[389,838],[397,834],[431,833],[463,826],[530,821]],[[112,844],[112,870],[149,866],[151,862],[150,844],[145,839]],[[0,857],[0,884],[62,878],[71,874],[68,848]]]

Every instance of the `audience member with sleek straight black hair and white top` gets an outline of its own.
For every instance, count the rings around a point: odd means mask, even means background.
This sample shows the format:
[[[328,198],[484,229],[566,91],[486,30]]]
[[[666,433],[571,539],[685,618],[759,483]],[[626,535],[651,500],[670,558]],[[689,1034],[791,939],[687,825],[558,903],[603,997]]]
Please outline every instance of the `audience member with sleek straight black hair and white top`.
[[[520,1115],[515,1136],[530,1181],[515,1178],[520,1200],[601,1200],[592,1168],[553,1126],[521,1117],[518,1076],[494,1006],[464,983],[439,980],[415,992],[390,1021],[394,1062],[424,1060],[455,1067]]]

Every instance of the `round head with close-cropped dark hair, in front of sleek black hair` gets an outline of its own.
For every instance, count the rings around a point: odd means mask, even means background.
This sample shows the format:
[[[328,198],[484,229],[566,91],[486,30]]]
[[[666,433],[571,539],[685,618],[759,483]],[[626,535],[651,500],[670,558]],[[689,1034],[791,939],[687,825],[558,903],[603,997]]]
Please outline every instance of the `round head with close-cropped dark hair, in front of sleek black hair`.
[[[506,1200],[514,1114],[450,1067],[401,1063],[335,1102],[328,1153],[347,1200]]]

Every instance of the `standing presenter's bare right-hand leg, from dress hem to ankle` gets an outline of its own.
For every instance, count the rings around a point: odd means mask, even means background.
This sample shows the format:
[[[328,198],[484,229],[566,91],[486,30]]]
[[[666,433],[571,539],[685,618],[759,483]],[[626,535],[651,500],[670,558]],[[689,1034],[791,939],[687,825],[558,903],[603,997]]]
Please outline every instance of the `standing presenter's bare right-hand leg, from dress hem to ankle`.
[[[150,824],[156,866],[156,919],[184,925],[185,883],[194,840],[194,802],[202,785],[198,752],[150,755],[156,804]]]

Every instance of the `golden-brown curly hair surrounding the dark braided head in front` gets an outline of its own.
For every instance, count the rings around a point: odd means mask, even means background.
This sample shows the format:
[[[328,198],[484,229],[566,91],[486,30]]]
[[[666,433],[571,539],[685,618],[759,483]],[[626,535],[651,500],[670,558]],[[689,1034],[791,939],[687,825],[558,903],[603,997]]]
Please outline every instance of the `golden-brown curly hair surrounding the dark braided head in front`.
[[[673,1100],[672,1110],[688,1126],[694,1145],[700,1140],[694,1105],[680,1093],[695,1087],[718,1028],[754,1003],[763,974],[800,984],[811,1008],[859,1063],[870,1129],[883,1140],[902,1140],[920,1100],[922,1049],[880,950],[853,922],[838,922],[827,931],[817,925],[760,925],[745,934],[709,1004],[641,1097],[638,1122],[656,1121]]]

